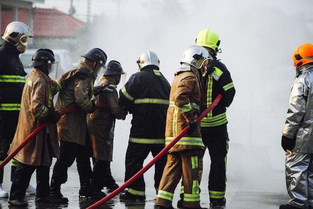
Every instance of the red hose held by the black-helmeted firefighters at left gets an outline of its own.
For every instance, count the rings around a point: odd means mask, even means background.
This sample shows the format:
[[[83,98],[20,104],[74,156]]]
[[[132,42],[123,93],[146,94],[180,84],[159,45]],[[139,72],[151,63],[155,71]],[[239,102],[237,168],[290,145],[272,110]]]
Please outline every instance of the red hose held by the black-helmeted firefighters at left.
[[[106,108],[108,107],[108,105],[102,104],[102,105],[96,105],[97,108]],[[60,115],[64,115],[66,113],[69,112],[73,112],[75,110],[78,110],[78,107],[72,107],[72,108],[68,108],[66,110],[63,110],[60,112]],[[19,152],[33,137],[36,136],[36,134],[43,129],[46,125],[48,125],[49,122],[44,122],[42,124],[40,124],[35,130],[33,130],[24,140],[23,142],[21,142],[18,147],[12,152],[10,153],[1,163],[0,163],[0,169],[4,167],[4,165],[6,163],[8,163],[14,156],[15,154],[17,154],[17,152]]]

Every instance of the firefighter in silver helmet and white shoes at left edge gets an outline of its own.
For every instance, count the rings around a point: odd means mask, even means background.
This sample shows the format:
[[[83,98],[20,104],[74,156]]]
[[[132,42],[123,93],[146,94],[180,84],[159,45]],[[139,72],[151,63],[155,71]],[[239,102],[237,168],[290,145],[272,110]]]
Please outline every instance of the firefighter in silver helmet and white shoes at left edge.
[[[5,28],[0,47],[0,163],[7,157],[7,151],[14,137],[20,100],[25,84],[25,71],[18,57],[26,51],[29,38],[33,34],[29,27],[21,22],[11,22]],[[17,166],[12,159],[11,180]],[[8,197],[3,190],[3,168],[0,169],[0,197]],[[27,192],[33,193],[36,188],[28,185]]]

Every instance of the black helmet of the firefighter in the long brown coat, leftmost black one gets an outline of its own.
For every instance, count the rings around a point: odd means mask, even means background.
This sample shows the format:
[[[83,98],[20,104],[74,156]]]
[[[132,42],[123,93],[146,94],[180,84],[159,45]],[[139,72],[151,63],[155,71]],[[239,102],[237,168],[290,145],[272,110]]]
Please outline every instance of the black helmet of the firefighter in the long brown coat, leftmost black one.
[[[54,59],[54,54],[49,49],[38,49],[32,56],[31,62],[28,67],[40,66],[44,64],[58,63]]]

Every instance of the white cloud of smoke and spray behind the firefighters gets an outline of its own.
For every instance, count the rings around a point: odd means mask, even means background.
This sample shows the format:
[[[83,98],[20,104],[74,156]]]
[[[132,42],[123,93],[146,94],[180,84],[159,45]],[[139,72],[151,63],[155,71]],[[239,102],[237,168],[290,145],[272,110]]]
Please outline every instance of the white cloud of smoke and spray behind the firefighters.
[[[104,7],[93,17],[91,35],[82,39],[89,40],[86,49],[101,48],[108,61],[119,61],[127,78],[137,72],[139,54],[149,49],[158,55],[160,71],[171,83],[184,49],[194,44],[198,32],[215,30],[222,50],[217,57],[230,71],[236,89],[227,109],[228,178],[252,182],[278,170],[284,181],[280,138],[294,78],[290,56],[297,46],[311,42],[312,6],[310,0],[120,1],[119,7]],[[130,120],[128,115],[115,126],[111,165],[120,181]],[[207,178],[207,153],[204,159]]]

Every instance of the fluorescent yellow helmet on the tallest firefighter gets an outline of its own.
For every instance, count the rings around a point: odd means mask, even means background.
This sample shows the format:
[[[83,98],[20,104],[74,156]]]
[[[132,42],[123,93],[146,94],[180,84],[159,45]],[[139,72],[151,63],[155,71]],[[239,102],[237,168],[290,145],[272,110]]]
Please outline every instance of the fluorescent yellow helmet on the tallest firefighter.
[[[215,53],[219,51],[219,43],[220,40],[218,34],[209,28],[200,31],[195,39],[196,45],[211,48]]]

